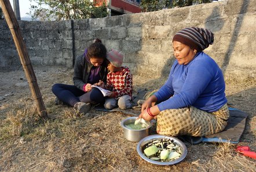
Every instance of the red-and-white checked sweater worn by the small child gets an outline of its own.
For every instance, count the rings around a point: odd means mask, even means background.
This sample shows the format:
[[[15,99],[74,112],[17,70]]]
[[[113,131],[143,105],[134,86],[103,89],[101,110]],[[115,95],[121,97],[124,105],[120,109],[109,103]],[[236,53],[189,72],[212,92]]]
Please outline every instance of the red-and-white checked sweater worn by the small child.
[[[105,89],[115,93],[115,97],[130,95],[133,90],[133,76],[130,69],[122,67],[122,71],[109,72]]]

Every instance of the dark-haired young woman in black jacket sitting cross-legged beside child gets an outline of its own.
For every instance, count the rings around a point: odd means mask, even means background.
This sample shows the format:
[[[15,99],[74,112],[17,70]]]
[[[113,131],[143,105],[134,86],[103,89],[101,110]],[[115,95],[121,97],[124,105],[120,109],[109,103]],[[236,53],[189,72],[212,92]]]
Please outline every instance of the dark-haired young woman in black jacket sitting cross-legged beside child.
[[[107,81],[107,49],[100,39],[94,40],[82,56],[76,58],[74,66],[74,85],[56,83],[52,87],[56,95],[56,104],[68,104],[75,107],[79,113],[86,114],[90,103],[104,104],[105,98],[100,90],[91,86]]]

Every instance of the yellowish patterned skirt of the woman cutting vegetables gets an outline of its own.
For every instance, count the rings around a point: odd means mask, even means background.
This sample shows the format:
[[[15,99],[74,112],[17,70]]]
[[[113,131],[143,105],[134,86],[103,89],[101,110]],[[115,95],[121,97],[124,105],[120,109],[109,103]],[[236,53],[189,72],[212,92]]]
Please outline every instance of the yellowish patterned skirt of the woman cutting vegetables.
[[[224,130],[228,118],[226,104],[216,112],[195,107],[166,109],[157,117],[156,130],[166,136],[209,136]]]

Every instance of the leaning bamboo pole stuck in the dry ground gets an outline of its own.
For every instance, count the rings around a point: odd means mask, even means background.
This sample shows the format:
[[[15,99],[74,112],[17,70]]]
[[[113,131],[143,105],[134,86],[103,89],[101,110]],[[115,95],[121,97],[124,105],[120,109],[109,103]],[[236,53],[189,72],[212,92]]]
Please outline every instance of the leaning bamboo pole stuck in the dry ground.
[[[0,5],[3,10],[5,20],[10,28],[10,32],[12,33],[13,41],[16,45],[21,64],[23,65],[23,69],[25,72],[25,76],[28,80],[28,84],[30,86],[32,97],[36,102],[38,114],[41,118],[48,118],[45,104],[43,104],[41,92],[36,81],[34,70],[32,68],[30,57],[28,57],[27,47],[25,46],[25,43],[23,41],[20,27],[12,10],[12,6],[10,5],[9,0],[0,0]]]

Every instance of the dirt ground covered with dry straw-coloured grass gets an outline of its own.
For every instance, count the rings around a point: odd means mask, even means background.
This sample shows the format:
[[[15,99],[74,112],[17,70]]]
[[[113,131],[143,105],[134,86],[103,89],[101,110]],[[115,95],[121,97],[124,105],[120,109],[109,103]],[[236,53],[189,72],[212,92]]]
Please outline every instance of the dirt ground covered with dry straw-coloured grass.
[[[123,137],[121,112],[92,109],[75,115],[75,109],[54,105],[54,83],[72,84],[72,69],[34,67],[47,114],[36,114],[22,69],[0,71],[0,171],[256,171],[256,160],[235,152],[237,145],[186,145],[186,158],[172,166],[142,160],[137,143]],[[134,90],[158,89],[166,78],[134,76]],[[247,112],[239,145],[256,152],[256,82],[226,80],[229,106]],[[152,133],[151,134],[155,134]]]

